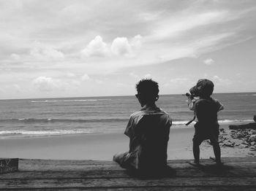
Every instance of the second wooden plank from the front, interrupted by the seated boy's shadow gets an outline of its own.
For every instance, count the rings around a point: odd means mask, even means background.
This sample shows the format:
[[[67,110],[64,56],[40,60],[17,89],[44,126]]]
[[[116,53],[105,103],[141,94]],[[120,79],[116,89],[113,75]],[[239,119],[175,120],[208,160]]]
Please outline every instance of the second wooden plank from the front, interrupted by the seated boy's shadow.
[[[176,177],[241,177],[256,176],[256,168],[224,168],[224,169],[177,169]],[[96,178],[129,178],[132,177],[125,170],[116,171],[26,171],[13,174],[4,174],[0,180],[4,179],[96,179]]]

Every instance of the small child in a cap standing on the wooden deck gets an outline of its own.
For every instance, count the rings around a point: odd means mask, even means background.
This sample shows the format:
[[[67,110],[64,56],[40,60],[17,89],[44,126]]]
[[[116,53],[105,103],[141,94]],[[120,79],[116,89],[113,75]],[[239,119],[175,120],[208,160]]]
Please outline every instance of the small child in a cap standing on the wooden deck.
[[[222,165],[221,152],[219,147],[219,123],[217,112],[224,109],[217,99],[211,98],[214,91],[214,83],[209,79],[199,79],[197,85],[192,87],[187,93],[189,109],[195,112],[197,122],[195,123],[195,135],[193,138],[194,164],[199,165],[200,144],[210,139],[214,148],[215,161],[217,165]],[[195,98],[197,97],[197,99]]]

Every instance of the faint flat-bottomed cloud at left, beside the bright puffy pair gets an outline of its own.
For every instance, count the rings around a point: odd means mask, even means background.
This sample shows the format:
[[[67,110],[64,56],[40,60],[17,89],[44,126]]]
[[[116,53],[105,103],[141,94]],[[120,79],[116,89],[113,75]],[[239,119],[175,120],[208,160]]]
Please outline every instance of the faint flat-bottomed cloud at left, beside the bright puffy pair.
[[[61,61],[65,58],[64,53],[62,53],[61,51],[40,43],[37,43],[36,46],[31,49],[30,55],[33,58],[42,61]]]

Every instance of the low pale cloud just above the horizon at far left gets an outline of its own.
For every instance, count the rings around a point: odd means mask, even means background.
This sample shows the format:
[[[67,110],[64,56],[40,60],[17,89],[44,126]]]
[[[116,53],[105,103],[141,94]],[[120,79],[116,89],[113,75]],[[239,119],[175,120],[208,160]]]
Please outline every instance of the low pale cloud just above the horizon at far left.
[[[51,77],[37,77],[34,79],[34,85],[38,90],[43,92],[49,92],[63,87],[58,79]]]

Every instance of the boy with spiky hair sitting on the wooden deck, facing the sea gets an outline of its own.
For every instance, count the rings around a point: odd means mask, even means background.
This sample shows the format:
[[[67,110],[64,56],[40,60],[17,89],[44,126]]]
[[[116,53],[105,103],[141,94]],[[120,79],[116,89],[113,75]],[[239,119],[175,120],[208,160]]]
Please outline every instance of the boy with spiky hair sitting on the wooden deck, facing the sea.
[[[159,98],[157,82],[142,79],[136,89],[136,97],[143,108],[130,116],[124,132],[129,136],[129,152],[118,153],[113,156],[113,160],[123,168],[157,174],[167,167],[171,120],[155,104]]]

